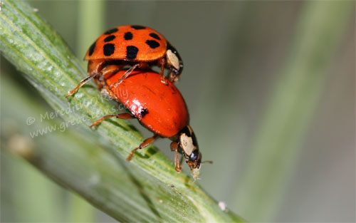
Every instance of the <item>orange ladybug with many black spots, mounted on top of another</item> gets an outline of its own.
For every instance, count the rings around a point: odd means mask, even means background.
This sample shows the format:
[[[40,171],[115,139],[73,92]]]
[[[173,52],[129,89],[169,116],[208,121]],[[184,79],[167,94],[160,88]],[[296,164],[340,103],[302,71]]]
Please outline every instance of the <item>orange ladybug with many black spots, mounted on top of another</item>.
[[[103,76],[108,75],[105,69],[114,64],[118,70],[126,65],[128,69],[116,83],[119,85],[135,68],[148,68],[152,65],[160,66],[162,83],[167,84],[164,79],[164,68],[169,68],[170,81],[178,81],[183,70],[183,61],[179,53],[164,36],[147,26],[117,26],[105,31],[90,46],[85,54],[85,61],[88,61],[88,77],[84,78],[77,87],[68,92],[66,98],[75,93],[80,86],[95,78],[100,85],[103,84]],[[117,71],[118,71],[117,70]],[[111,71],[113,73],[117,71]],[[111,73],[112,74],[112,73]]]

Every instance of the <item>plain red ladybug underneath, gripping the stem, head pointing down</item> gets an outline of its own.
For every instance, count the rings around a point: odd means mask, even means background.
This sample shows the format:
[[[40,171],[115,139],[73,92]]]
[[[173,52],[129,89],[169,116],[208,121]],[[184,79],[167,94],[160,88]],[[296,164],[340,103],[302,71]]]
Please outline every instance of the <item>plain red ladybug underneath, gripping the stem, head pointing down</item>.
[[[108,66],[110,70],[116,68],[115,65]],[[125,76],[127,71],[117,71],[114,75],[106,77],[102,91],[125,105],[130,113],[105,115],[95,121],[90,128],[107,118],[137,118],[141,125],[155,135],[145,139],[132,150],[127,161],[131,160],[136,150],[150,145],[157,138],[169,138],[172,140],[171,150],[175,152],[175,170],[177,172],[182,170],[178,162],[178,153],[180,153],[182,158],[185,157],[194,179],[197,179],[201,167],[201,152],[199,152],[197,138],[189,126],[187,105],[181,93],[167,78],[165,80],[167,85],[160,83],[160,74],[150,70],[135,69],[120,85],[112,85]]]

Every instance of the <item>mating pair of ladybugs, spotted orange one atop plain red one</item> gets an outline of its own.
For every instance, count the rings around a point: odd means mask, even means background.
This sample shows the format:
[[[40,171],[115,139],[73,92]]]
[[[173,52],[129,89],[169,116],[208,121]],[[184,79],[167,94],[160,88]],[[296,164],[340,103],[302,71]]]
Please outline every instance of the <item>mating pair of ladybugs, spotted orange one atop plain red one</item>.
[[[90,46],[84,58],[88,61],[88,77],[68,92],[66,98],[80,86],[94,79],[98,88],[110,98],[125,105],[130,113],[105,115],[95,121],[94,127],[107,118],[137,118],[142,125],[155,133],[132,150],[150,145],[157,138],[172,140],[175,152],[175,169],[182,170],[178,153],[184,157],[194,179],[199,176],[201,152],[192,128],[184,98],[172,83],[182,73],[183,63],[176,49],[157,31],[145,26],[117,26],[103,33]],[[130,68],[125,68],[130,66]],[[150,66],[159,66],[160,73],[151,71]],[[169,79],[164,76],[169,69]],[[122,97],[122,92],[127,92]]]

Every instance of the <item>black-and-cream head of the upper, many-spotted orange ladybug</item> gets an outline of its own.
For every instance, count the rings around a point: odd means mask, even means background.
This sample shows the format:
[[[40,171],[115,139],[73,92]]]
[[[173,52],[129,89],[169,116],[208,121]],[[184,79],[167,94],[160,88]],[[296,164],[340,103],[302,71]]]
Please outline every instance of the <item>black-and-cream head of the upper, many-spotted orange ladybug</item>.
[[[167,64],[169,65],[169,68],[172,71],[170,78],[172,81],[177,81],[179,75],[183,71],[183,61],[182,58],[179,56],[179,53],[177,52],[176,48],[174,48],[174,46],[172,46],[169,42],[167,42],[167,51],[165,56]]]

